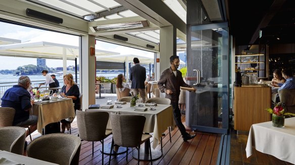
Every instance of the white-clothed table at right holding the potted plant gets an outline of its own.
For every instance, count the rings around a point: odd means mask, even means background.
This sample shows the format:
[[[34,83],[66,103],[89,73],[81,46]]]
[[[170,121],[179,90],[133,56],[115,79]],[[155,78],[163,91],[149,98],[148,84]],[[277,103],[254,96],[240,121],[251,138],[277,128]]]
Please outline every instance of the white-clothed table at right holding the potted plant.
[[[285,119],[283,128],[272,126],[272,121],[251,126],[247,146],[247,158],[256,150],[278,159],[295,163],[295,117]]]

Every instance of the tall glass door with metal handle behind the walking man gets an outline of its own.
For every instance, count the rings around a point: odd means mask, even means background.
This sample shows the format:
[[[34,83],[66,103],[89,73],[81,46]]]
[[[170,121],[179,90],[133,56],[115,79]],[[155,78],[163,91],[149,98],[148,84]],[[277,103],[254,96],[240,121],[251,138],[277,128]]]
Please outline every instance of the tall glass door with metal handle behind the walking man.
[[[190,26],[186,125],[191,129],[227,134],[229,123],[229,38],[227,23]],[[198,78],[200,77],[200,78]]]

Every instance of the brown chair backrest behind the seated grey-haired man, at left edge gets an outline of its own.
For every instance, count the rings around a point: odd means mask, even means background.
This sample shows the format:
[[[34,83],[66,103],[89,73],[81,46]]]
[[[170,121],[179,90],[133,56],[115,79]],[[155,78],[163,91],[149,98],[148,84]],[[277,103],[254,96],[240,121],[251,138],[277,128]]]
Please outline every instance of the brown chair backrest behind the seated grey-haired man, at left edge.
[[[0,107],[0,127],[12,126],[14,115],[14,108]]]

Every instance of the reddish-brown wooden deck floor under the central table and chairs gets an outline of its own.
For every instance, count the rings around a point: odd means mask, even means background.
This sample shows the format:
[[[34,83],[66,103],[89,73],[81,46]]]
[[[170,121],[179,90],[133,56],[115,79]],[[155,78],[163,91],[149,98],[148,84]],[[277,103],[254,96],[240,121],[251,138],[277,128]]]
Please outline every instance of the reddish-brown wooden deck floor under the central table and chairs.
[[[185,121],[184,115],[182,121]],[[72,123],[72,134],[78,134],[76,121]],[[180,131],[176,127],[171,131],[171,143],[168,130],[165,131],[165,134],[166,136],[163,136],[163,155],[154,160],[153,164],[216,164],[220,144],[219,134],[197,132],[193,139],[183,142]],[[194,134],[194,132],[190,132],[190,134]],[[33,138],[39,135],[37,133]],[[26,140],[29,142],[29,137]],[[105,139],[105,144],[111,142],[112,136]],[[94,155],[92,155],[92,142],[82,141],[79,164],[102,164],[101,146],[101,142],[94,142]],[[161,149],[161,145],[157,148]],[[126,153],[124,153],[112,156],[111,164],[137,164],[137,159],[134,159],[131,154],[133,149],[128,151],[128,161]],[[109,155],[105,154],[104,164],[108,162]],[[140,164],[151,163],[150,161],[140,161]]]

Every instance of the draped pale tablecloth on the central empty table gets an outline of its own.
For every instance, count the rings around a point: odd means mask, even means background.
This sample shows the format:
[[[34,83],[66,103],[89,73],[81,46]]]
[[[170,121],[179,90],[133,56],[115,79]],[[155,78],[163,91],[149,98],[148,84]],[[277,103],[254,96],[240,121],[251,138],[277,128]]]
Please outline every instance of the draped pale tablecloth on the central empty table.
[[[145,106],[144,106],[145,107]],[[150,107],[146,107],[150,109]],[[120,115],[142,115],[146,118],[143,132],[152,133],[154,132],[154,141],[153,148],[155,149],[160,144],[160,139],[162,133],[167,130],[169,126],[174,128],[175,121],[173,119],[173,110],[171,105],[161,105],[156,106],[155,111],[147,110],[144,112],[134,111],[134,108],[130,107],[130,103],[122,105],[122,108],[116,108],[116,105],[113,109],[91,109],[86,111],[104,111],[104,112],[113,112]],[[107,129],[112,129],[111,120],[109,119]]]

